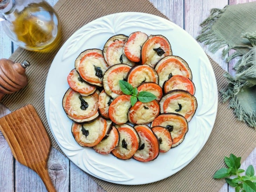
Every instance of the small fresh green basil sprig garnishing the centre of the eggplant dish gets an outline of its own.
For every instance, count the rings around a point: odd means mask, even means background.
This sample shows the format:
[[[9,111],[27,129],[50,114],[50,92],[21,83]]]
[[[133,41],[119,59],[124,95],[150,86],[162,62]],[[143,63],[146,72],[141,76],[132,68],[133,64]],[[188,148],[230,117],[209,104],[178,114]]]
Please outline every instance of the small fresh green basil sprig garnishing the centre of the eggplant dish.
[[[148,91],[141,91],[138,94],[137,88],[133,88],[133,86],[126,81],[119,80],[119,85],[124,94],[132,95],[130,98],[132,106],[135,105],[137,99],[142,103],[147,103],[156,99],[156,96]]]

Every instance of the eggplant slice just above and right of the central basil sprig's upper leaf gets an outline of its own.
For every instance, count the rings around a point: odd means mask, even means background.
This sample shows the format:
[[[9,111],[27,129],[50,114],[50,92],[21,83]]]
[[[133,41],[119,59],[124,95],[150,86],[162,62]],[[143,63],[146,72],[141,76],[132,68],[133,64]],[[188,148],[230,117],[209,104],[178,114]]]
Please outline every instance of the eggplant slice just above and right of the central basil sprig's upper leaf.
[[[158,81],[156,70],[148,65],[137,65],[130,69],[127,74],[127,82],[133,87],[138,87],[144,82],[158,83]]]

